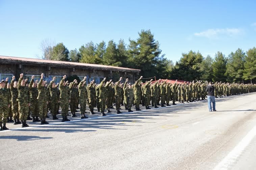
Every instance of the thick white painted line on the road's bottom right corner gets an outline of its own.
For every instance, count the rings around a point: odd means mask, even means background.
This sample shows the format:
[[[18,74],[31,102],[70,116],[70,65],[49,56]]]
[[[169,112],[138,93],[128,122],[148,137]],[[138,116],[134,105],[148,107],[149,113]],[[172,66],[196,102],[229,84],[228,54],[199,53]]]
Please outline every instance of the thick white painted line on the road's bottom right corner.
[[[256,135],[256,126],[229,152],[229,154],[214,168],[214,170],[227,170],[241,155],[242,151]]]

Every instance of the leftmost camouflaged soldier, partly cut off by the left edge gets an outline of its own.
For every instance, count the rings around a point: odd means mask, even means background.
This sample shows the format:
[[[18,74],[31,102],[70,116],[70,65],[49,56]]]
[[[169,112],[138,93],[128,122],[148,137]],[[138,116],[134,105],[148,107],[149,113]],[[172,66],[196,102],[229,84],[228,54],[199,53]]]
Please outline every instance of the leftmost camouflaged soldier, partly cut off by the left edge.
[[[7,79],[8,81],[8,79]],[[7,83],[7,82],[6,82]],[[2,130],[9,130],[6,128],[6,122],[7,122],[7,117],[9,117],[9,108],[11,104],[11,96],[10,96],[10,91],[5,88],[5,81],[2,80],[0,82],[0,111],[1,111],[1,118],[0,118],[0,131]],[[3,125],[2,125],[3,122]]]

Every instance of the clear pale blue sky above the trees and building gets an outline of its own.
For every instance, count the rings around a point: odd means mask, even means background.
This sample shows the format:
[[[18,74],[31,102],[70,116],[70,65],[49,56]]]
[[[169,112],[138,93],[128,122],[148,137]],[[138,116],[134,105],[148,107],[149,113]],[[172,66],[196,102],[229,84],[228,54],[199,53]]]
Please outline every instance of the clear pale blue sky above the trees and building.
[[[136,39],[150,29],[162,54],[178,61],[181,53],[214,57],[256,46],[256,1],[13,1],[0,0],[0,55],[42,56],[44,39],[79,49],[120,38]]]

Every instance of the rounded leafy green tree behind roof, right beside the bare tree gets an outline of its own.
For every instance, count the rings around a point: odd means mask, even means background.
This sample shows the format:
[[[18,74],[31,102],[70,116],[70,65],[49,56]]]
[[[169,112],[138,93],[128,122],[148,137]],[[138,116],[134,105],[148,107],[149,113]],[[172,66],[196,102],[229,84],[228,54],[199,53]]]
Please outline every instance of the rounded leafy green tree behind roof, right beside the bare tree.
[[[62,42],[53,47],[51,60],[69,61],[69,50]]]

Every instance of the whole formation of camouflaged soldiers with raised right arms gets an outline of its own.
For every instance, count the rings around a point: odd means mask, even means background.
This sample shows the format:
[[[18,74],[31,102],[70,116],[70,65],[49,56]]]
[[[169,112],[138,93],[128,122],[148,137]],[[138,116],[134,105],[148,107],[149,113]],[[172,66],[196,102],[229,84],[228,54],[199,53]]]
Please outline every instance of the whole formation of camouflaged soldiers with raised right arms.
[[[158,106],[170,106],[171,101],[172,105],[176,105],[175,102],[196,102],[205,100],[207,97],[205,89],[208,85],[207,81],[178,83],[176,80],[175,83],[170,83],[167,79],[159,79],[155,82],[151,79],[143,83],[142,76],[134,84],[128,83],[128,79],[122,83],[122,77],[116,83],[112,80],[106,81],[104,78],[100,84],[96,84],[94,80],[86,84],[86,77],[84,77],[78,84],[77,80],[71,83],[66,81],[66,75],[57,84],[56,78],[53,77],[47,85],[47,81],[43,80],[44,74],[41,74],[39,82],[34,81],[34,76],[28,82],[28,79],[23,79],[23,76],[20,74],[18,82],[13,76],[10,84],[8,78],[0,83],[0,110],[2,112],[0,130],[8,130],[7,122],[22,124],[22,128],[29,126],[27,120],[48,124],[46,121],[49,117],[48,111],[52,114],[53,120],[58,119],[56,115],[59,114],[59,108],[61,108],[61,121],[70,121],[68,119],[69,108],[72,117],[77,117],[75,113],[78,105],[80,105],[81,119],[84,119],[88,118],[85,116],[86,105],[90,114],[95,114],[94,108],[97,107],[97,111],[105,116],[105,110],[110,113],[114,105],[117,114],[120,114],[122,113],[121,105],[124,105],[128,112],[133,112],[132,105],[135,106],[136,111],[140,111],[140,105],[151,109],[150,103],[152,107],[158,108]],[[216,98],[256,91],[256,84],[215,82],[213,85]]]

